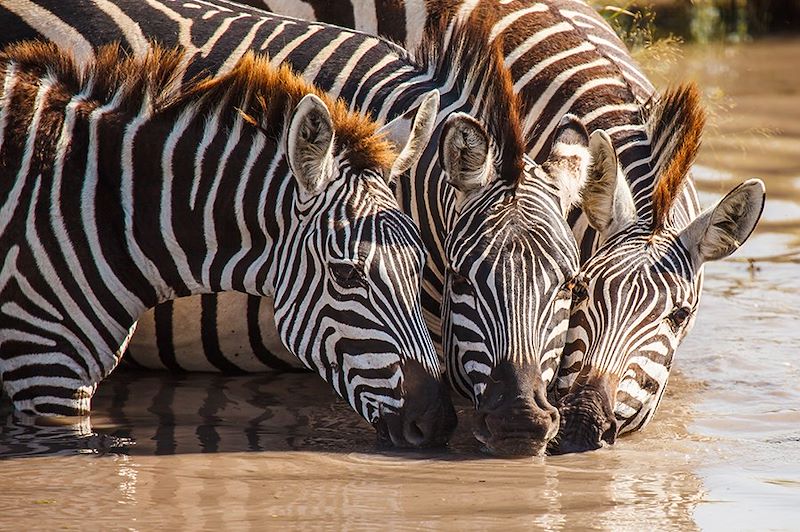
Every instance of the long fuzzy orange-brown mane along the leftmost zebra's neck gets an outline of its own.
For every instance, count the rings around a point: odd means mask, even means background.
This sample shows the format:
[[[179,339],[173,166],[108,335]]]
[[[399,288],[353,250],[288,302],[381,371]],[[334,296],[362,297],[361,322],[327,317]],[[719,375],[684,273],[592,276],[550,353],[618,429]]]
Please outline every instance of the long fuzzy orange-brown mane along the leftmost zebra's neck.
[[[152,43],[144,57],[135,57],[119,44],[97,50],[96,58],[79,65],[72,54],[45,42],[23,42],[0,52],[0,69],[9,64],[51,79],[67,94],[87,92],[87,100],[102,105],[117,99],[120,111],[139,112],[147,105],[151,117],[187,105],[211,109],[221,101],[231,112],[257,126],[274,140],[283,135],[284,123],[294,106],[307,94],[318,96],[331,114],[336,149],[356,171],[388,169],[396,152],[378,135],[378,124],[348,111],[341,100],[305,82],[288,66],[274,67],[266,57],[247,52],[233,69],[221,76],[196,78],[181,85],[185,54]]]

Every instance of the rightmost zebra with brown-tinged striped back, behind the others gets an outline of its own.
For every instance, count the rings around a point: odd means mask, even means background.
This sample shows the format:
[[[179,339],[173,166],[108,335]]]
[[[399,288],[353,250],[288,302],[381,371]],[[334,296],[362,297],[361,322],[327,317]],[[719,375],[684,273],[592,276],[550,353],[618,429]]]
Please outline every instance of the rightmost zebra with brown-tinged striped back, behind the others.
[[[568,414],[561,416],[562,423],[572,416],[570,412],[585,408],[594,412],[599,420],[590,431],[592,439],[604,435],[591,444],[578,444],[572,441],[577,429],[566,429],[559,437],[562,451],[596,448],[601,442],[613,442],[618,433],[643,428],[661,400],[673,355],[689,329],[683,322],[687,316],[693,321],[702,291],[700,266],[703,261],[691,257],[688,252],[674,251],[686,246],[689,239],[688,234],[679,236],[678,233],[688,231],[689,227],[697,230],[697,224],[713,218],[710,212],[721,215],[741,208],[755,218],[748,217],[741,221],[741,226],[726,229],[731,234],[746,237],[757,222],[759,205],[763,203],[763,198],[758,197],[759,191],[763,192],[763,184],[747,181],[722,200],[718,206],[721,211],[700,212],[694,184],[687,177],[689,165],[678,162],[681,152],[675,149],[676,144],[686,144],[693,146],[686,148],[693,151],[696,150],[693,143],[699,142],[693,137],[680,137],[699,135],[702,129],[698,123],[701,110],[697,90],[684,85],[656,94],[625,45],[583,0],[402,0],[393,2],[391,7],[379,0],[246,0],[245,3],[288,15],[319,17],[364,31],[377,31],[407,46],[413,46],[426,34],[442,31],[442,24],[482,20],[491,25],[490,39],[502,46],[505,66],[510,69],[514,91],[523,107],[523,135],[531,158],[541,162],[546,156],[547,139],[563,113],[576,115],[590,131],[608,132],[609,135],[595,139],[594,160],[605,162],[593,164],[590,174],[610,175],[613,168],[604,168],[604,165],[618,164],[620,194],[626,201],[630,196],[635,205],[635,209],[629,208],[624,214],[636,213],[640,222],[633,223],[633,217],[628,216],[620,220],[631,221],[629,226],[621,221],[609,226],[607,215],[602,211],[590,215],[587,205],[589,209],[592,205],[616,205],[616,200],[609,202],[608,198],[598,198],[594,193],[584,193],[583,208],[570,213],[570,224],[580,249],[581,278],[591,281],[587,285],[586,281],[576,280],[574,285],[570,339],[561,361],[560,375],[553,381],[556,388],[552,396],[554,402],[561,402],[562,413]],[[664,126],[673,124],[675,117],[694,117],[695,127],[670,130]],[[680,120],[675,123],[682,124]],[[602,145],[608,140],[613,144],[612,150]],[[683,175],[675,174],[676,169]],[[623,193],[626,188],[628,191]],[[597,187],[590,190],[597,191]],[[670,193],[665,194],[665,191]],[[661,221],[655,223],[649,213],[657,205]],[[668,205],[674,206],[669,209]],[[674,221],[670,223],[665,221],[672,218]],[[663,226],[669,230],[664,230]],[[609,247],[612,244],[606,241],[615,232],[619,233],[614,236],[616,246],[612,251]],[[672,257],[671,262],[680,262],[680,266],[674,264],[674,267],[683,271],[684,277],[666,272],[644,277],[631,273],[621,277],[623,265],[644,267],[646,262],[637,263],[635,259],[636,256],[642,258],[642,239],[658,241],[659,245],[653,249],[659,249],[664,257]],[[690,243],[696,244],[698,239],[700,236],[695,235]],[[744,238],[738,238],[737,242],[727,253],[712,255],[706,260],[733,252]],[[626,253],[630,254],[632,262],[625,259]],[[675,253],[682,257],[680,261]],[[686,285],[684,279],[691,282]],[[646,289],[641,285],[645,281]],[[613,286],[613,290],[592,290],[592,287],[601,286]],[[676,316],[670,318],[663,312],[651,312],[655,308],[666,312],[662,305],[678,293],[683,294],[685,304],[675,309]],[[610,309],[623,301],[628,314],[615,315],[612,325],[614,313]],[[675,323],[679,334],[665,336],[665,320]],[[636,348],[631,344],[634,338]],[[588,345],[589,340],[593,346]],[[644,346],[650,347],[645,349]],[[607,384],[601,387],[605,397],[602,416],[598,413],[598,402],[590,399],[597,386],[589,386],[585,394],[577,393],[586,386],[587,375],[595,370],[608,374],[603,379]],[[605,428],[599,430],[601,427]]]

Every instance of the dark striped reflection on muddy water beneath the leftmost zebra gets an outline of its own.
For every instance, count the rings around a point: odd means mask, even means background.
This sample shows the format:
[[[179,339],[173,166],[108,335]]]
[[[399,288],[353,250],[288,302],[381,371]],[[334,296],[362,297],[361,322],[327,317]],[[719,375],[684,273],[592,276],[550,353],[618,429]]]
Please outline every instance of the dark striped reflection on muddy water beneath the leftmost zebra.
[[[462,424],[470,408],[457,407]],[[42,426],[13,412],[7,398],[0,401],[0,459],[259,451],[465,459],[481,456],[478,445],[464,426],[447,449],[380,448],[372,427],[310,373],[229,376],[119,368],[98,388],[91,418],[62,426]]]

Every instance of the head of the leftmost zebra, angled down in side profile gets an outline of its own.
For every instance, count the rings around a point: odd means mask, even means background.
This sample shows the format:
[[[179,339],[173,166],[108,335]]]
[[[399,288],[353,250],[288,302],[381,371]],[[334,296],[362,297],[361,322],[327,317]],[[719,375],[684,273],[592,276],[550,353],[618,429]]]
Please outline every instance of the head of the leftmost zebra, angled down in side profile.
[[[298,223],[274,287],[278,332],[379,440],[397,446],[443,444],[455,427],[420,308],[422,240],[383,169],[405,171],[415,161],[409,150],[426,144],[415,135],[431,129],[412,128],[407,149],[378,167],[358,160],[315,96],[297,105],[286,130]]]

